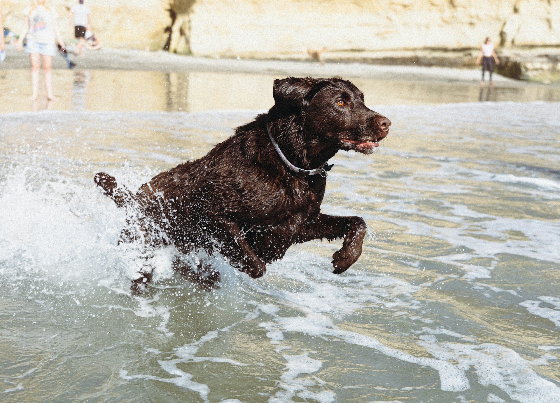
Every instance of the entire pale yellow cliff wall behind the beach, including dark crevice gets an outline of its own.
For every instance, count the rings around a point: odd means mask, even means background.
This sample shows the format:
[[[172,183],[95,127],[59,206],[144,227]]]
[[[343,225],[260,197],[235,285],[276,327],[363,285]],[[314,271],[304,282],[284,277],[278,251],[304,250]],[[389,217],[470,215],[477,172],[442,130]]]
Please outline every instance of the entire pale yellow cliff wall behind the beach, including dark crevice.
[[[65,37],[77,0],[54,0]],[[3,0],[18,31],[26,0]],[[560,45],[560,0],[86,0],[104,44],[200,56]]]

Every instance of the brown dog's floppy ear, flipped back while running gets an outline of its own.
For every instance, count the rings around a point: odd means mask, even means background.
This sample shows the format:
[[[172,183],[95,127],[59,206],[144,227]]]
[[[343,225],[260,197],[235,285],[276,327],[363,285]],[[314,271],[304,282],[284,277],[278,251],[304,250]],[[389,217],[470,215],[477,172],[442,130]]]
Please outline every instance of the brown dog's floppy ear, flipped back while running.
[[[281,112],[298,112],[307,107],[311,98],[328,83],[325,79],[312,77],[274,80],[272,96]]]

